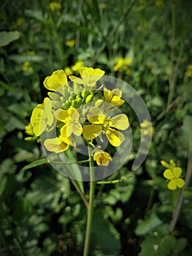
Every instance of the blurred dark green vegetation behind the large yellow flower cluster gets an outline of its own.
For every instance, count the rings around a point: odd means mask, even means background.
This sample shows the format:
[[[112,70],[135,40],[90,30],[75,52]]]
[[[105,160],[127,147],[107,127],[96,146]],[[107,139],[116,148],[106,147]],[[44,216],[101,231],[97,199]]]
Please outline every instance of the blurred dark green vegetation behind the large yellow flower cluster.
[[[47,95],[43,80],[56,69],[77,75],[82,65],[137,89],[154,127],[147,159],[131,172],[139,124],[125,110],[134,148],[109,180],[131,178],[96,187],[91,255],[192,254],[191,10],[184,0],[1,1],[0,255],[82,254],[86,208],[71,181],[50,165],[22,170],[44,157],[24,140],[32,109]],[[183,169],[182,206],[161,159]],[[180,217],[170,228],[175,207]]]

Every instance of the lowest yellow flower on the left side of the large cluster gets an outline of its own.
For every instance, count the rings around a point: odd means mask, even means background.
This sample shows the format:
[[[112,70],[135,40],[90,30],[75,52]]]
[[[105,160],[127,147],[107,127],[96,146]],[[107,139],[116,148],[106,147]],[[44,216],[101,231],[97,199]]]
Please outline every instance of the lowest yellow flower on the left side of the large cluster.
[[[59,137],[45,140],[44,146],[48,151],[53,151],[57,154],[66,151],[69,148],[69,143],[66,143],[63,138]]]

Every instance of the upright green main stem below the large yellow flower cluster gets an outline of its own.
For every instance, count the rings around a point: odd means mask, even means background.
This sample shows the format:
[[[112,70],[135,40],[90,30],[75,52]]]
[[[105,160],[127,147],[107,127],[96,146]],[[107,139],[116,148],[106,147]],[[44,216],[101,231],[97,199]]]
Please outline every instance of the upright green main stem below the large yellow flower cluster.
[[[93,219],[93,200],[94,200],[94,194],[95,194],[93,159],[91,157],[91,148],[89,146],[88,146],[88,154],[89,154],[89,170],[90,170],[90,192],[89,192],[89,207],[88,207],[88,217],[87,217],[83,256],[88,256],[88,251],[89,251],[89,244],[90,244],[90,238],[91,238],[91,225],[92,225],[92,219]]]

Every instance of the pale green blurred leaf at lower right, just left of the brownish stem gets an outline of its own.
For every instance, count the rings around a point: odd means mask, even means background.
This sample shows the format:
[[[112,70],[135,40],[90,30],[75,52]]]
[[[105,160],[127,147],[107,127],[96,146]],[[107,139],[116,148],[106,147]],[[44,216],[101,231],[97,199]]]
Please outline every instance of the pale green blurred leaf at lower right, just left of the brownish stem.
[[[153,230],[155,227],[158,227],[161,224],[162,224],[161,219],[159,219],[157,215],[153,212],[152,214],[150,214],[150,217],[148,217],[147,219],[138,220],[135,233],[137,236],[145,236],[145,234],[149,233],[151,230]]]

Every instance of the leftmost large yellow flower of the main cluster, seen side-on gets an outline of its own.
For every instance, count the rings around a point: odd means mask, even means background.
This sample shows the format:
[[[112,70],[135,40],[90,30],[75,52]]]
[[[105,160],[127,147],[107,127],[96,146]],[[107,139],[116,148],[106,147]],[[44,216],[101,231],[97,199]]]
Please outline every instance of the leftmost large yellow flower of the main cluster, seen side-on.
[[[52,126],[53,113],[51,110],[52,102],[49,98],[45,98],[43,104],[39,104],[36,108],[34,108],[31,114],[30,124],[26,126],[26,132],[28,135],[39,136],[47,127]]]

